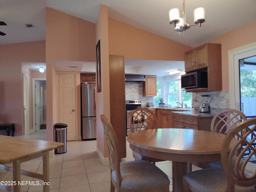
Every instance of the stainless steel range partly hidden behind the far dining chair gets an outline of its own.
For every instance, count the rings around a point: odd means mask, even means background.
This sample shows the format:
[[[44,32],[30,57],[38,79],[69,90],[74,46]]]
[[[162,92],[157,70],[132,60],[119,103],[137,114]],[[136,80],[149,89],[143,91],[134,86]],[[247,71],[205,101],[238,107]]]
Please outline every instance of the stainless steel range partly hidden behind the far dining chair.
[[[130,115],[134,109],[141,108],[140,100],[126,100],[125,101],[126,108],[126,136],[130,134]]]

